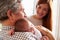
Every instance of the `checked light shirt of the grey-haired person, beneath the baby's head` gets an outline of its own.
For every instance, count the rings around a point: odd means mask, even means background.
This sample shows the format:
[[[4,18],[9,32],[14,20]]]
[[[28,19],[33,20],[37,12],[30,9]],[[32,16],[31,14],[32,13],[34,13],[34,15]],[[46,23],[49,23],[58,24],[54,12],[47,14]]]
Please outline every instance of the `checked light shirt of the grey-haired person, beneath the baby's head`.
[[[7,31],[0,31],[0,40],[37,40],[37,38],[31,32],[15,32],[10,36]]]

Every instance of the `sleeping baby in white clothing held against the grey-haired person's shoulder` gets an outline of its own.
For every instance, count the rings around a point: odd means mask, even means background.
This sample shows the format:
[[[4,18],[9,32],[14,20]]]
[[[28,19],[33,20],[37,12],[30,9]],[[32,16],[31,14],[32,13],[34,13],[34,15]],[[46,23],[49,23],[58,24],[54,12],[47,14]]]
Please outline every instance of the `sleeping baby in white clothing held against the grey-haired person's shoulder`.
[[[15,22],[15,32],[28,32],[32,38],[40,40],[42,38],[41,33],[31,25],[27,19],[19,19]],[[13,33],[14,31],[10,32]]]

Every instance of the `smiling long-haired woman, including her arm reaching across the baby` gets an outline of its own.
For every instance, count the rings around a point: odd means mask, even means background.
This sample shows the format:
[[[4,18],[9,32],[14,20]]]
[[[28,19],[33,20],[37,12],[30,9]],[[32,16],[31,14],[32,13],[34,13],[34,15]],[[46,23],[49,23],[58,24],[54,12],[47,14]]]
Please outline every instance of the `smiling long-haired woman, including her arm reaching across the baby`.
[[[55,40],[51,33],[51,8],[47,0],[38,1],[36,5],[36,14],[28,19],[36,26],[43,36],[49,37],[49,40]]]

